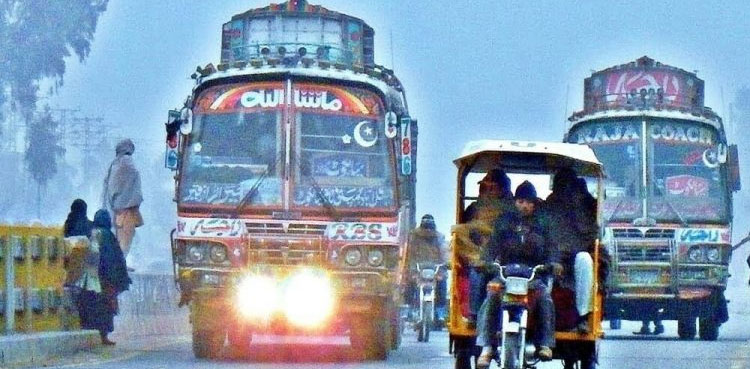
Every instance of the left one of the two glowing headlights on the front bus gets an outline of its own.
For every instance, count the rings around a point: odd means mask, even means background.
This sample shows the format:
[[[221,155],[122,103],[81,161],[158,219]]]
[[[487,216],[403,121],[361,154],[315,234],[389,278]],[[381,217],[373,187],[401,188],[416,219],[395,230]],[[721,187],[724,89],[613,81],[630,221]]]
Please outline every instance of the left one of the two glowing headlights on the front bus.
[[[270,318],[278,306],[276,283],[270,277],[249,275],[237,284],[237,310],[246,318]]]

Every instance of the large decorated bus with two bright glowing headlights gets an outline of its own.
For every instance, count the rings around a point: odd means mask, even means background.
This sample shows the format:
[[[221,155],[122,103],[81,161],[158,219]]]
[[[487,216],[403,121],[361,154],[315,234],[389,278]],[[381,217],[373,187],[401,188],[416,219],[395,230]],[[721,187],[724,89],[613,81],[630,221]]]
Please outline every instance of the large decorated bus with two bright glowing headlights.
[[[170,112],[172,249],[197,357],[225,340],[247,351],[254,332],[348,332],[375,359],[398,346],[416,121],[373,37],[304,0],[237,14],[220,63]]]

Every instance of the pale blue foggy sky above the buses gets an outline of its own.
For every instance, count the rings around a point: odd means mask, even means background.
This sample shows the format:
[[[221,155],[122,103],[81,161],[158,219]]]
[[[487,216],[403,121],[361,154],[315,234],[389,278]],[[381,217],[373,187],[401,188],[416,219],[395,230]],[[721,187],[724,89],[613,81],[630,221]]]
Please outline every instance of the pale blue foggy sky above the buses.
[[[559,141],[567,116],[582,107],[583,79],[592,70],[643,55],[697,70],[706,81],[706,104],[725,121],[735,91],[750,85],[750,3],[743,1],[311,3],[375,29],[376,62],[395,68],[420,122],[417,214],[434,214],[443,232],[454,222],[451,161],[463,144],[487,137]],[[197,65],[218,62],[222,23],[267,4],[112,0],[89,59],[69,60],[65,85],[49,102],[102,115],[135,138],[140,155],[160,156],[167,110],[190,93]],[[729,133],[730,141],[740,141]],[[163,173],[164,182],[144,183],[144,192],[170,186],[171,173]],[[744,235],[742,218],[737,228]]]

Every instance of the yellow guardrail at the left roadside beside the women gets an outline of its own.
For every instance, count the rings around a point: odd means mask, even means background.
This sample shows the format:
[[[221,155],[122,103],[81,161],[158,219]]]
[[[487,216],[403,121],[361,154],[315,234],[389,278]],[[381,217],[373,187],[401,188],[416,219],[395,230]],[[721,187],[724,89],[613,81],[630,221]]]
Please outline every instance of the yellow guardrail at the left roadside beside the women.
[[[63,289],[66,255],[58,227],[0,225],[0,329],[6,334],[78,329]]]

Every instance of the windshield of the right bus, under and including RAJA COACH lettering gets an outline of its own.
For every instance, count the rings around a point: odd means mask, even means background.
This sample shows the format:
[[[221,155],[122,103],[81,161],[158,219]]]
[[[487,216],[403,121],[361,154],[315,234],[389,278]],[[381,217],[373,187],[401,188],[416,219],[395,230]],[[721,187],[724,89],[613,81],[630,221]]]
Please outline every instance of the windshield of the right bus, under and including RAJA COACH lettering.
[[[699,122],[654,118],[646,120],[645,135],[642,127],[643,120],[633,118],[581,125],[569,135],[572,142],[588,144],[604,164],[604,219],[727,221],[728,188],[719,164],[723,145],[716,130]]]

